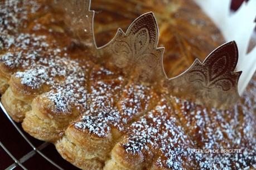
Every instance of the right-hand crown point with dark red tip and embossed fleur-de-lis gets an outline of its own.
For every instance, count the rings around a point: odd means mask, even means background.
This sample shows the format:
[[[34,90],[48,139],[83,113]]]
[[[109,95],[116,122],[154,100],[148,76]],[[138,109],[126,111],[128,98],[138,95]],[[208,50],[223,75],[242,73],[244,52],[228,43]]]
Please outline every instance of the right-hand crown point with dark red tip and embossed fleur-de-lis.
[[[170,92],[210,107],[228,108],[236,102],[238,79],[234,72],[238,62],[235,42],[223,44],[201,63],[198,59],[180,76],[168,79]]]

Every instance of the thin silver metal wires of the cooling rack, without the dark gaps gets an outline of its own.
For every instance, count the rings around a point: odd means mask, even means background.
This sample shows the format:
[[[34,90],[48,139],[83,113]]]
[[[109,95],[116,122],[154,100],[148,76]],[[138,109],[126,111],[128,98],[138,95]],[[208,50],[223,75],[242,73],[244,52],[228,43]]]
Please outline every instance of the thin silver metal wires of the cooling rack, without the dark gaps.
[[[3,107],[2,103],[0,102],[0,107],[2,108],[2,111],[4,114],[6,114],[9,121],[13,124],[13,126],[17,129],[17,131],[21,134],[21,136],[25,139],[25,141],[31,146],[32,150],[25,154],[20,159],[17,159],[11,152],[8,151],[8,149],[4,146],[4,144],[0,141],[0,146],[6,151],[6,153],[15,161],[15,163],[11,164],[11,166],[7,167],[6,169],[15,169],[16,167],[20,166],[22,169],[27,169],[25,166],[23,166],[22,163],[33,157],[36,153],[40,154],[41,157],[46,159],[46,161],[50,162],[53,166],[56,167],[56,169],[63,169],[58,164],[56,164],[54,161],[52,161],[49,157],[47,157],[44,153],[41,152],[42,149],[49,146],[50,143],[44,142],[39,147],[35,147],[34,144],[25,136],[25,134],[22,132],[22,130],[17,126],[17,124],[12,120],[12,118],[7,113],[6,109]]]

